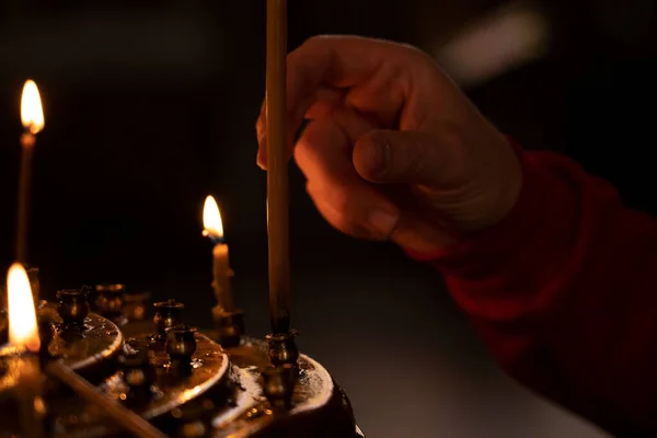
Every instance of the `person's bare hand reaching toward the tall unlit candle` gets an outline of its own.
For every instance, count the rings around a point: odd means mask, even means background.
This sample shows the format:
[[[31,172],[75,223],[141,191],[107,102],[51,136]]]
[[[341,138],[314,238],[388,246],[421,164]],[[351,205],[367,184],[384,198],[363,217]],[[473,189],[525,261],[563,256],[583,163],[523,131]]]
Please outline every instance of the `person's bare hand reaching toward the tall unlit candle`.
[[[290,155],[336,229],[435,252],[492,227],[515,205],[522,174],[512,148],[424,53],[319,36],[287,62]],[[263,169],[265,127],[263,104]]]

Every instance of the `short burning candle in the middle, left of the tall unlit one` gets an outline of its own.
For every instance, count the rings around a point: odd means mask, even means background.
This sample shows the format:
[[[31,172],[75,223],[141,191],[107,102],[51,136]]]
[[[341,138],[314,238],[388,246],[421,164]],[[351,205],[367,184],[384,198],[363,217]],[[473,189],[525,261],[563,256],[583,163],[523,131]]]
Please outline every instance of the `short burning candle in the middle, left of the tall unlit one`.
[[[224,312],[234,310],[231,290],[231,277],[233,272],[228,260],[228,245],[223,242],[223,224],[221,215],[215,198],[208,196],[203,207],[203,235],[209,238],[215,247],[212,249],[212,287],[217,303]]]

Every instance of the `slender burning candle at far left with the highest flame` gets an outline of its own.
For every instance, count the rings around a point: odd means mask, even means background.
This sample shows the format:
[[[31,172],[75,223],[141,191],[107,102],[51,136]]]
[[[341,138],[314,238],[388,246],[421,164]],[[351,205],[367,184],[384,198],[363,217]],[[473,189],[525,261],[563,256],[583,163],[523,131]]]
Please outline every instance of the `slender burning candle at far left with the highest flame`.
[[[38,89],[28,80],[23,87],[21,97],[21,120],[25,131],[21,136],[21,171],[19,176],[19,207],[16,218],[16,260],[25,262],[27,257],[27,209],[32,171],[32,152],[36,145],[36,135],[44,128],[44,111]]]

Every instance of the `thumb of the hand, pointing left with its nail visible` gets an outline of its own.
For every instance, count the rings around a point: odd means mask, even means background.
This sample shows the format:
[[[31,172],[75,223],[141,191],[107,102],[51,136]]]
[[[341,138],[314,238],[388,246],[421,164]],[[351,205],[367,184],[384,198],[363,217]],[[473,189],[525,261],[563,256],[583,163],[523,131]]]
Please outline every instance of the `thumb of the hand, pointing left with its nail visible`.
[[[373,183],[438,184],[446,163],[435,136],[418,131],[372,130],[354,147],[354,166]]]

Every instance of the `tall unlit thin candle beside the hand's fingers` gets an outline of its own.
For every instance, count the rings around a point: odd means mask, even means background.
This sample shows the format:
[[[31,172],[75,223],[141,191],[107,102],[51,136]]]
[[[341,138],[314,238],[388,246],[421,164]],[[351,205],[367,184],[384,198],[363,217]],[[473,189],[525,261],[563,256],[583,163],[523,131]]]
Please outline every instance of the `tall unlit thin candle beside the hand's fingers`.
[[[267,0],[267,229],[269,315],[275,334],[290,328],[290,262],[287,170],[287,2]]]

